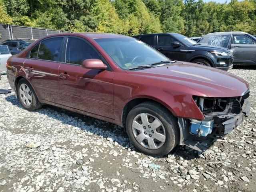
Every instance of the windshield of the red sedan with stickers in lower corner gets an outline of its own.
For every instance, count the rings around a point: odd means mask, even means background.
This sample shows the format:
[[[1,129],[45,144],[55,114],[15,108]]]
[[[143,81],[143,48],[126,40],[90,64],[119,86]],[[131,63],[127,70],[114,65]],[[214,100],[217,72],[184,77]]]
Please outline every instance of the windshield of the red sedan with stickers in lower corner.
[[[167,57],[134,38],[94,39],[122,69],[170,61]]]

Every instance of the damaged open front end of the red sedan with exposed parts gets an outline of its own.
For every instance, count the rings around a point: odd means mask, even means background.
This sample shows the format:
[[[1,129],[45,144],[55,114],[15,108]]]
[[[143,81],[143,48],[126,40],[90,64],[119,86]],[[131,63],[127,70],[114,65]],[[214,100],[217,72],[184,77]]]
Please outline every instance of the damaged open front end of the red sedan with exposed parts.
[[[193,96],[204,115],[204,120],[179,118],[182,132],[180,144],[200,152],[206,145],[228,134],[239,126],[250,112],[249,88],[239,97],[213,98]]]

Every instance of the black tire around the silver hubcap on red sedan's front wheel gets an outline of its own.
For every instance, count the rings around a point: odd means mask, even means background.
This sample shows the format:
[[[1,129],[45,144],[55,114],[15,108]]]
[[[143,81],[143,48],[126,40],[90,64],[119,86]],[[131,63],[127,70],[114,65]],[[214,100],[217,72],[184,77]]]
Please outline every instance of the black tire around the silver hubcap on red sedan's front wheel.
[[[165,129],[166,139],[164,144],[158,149],[149,149],[142,146],[137,142],[133,131],[132,122],[134,118],[141,114],[148,113],[160,120]],[[126,118],[126,131],[129,136],[130,142],[141,152],[151,156],[163,156],[168,154],[178,143],[178,122],[176,118],[164,108],[162,105],[156,102],[143,102],[135,106],[128,114]]]

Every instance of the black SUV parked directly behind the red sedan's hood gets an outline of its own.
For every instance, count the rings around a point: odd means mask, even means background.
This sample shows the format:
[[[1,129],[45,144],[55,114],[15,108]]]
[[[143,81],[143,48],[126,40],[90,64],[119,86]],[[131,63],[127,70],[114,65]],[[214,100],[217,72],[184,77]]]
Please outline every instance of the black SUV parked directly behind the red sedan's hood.
[[[173,60],[198,63],[226,71],[233,67],[233,54],[229,49],[201,45],[178,33],[144,34],[133,37]]]

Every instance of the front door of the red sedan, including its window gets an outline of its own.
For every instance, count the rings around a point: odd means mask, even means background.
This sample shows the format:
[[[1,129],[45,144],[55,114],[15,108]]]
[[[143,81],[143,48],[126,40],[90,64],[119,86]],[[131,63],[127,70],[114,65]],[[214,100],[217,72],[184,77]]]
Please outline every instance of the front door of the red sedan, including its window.
[[[66,56],[59,68],[62,104],[92,114],[114,118],[114,73],[82,68],[86,59],[101,59],[94,47],[78,37],[68,37]]]

